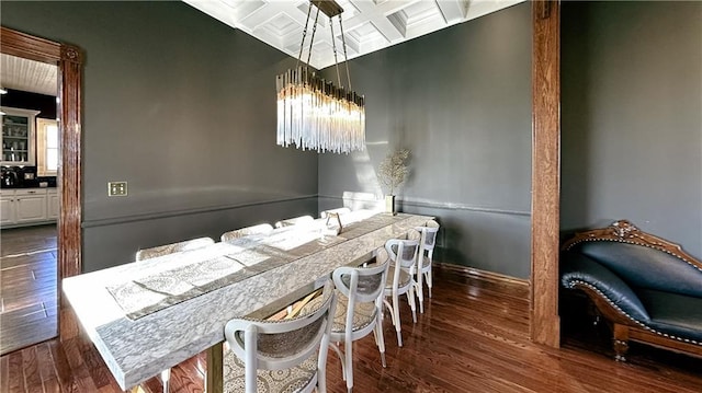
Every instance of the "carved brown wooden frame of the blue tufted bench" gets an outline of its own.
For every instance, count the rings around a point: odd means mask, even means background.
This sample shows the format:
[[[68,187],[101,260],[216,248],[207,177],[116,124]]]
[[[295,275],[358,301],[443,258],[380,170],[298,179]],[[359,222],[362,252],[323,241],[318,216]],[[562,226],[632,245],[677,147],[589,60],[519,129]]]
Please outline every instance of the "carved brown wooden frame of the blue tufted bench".
[[[702,274],[702,262],[686,253],[679,244],[643,232],[626,220],[615,221],[608,228],[577,233],[573,239],[564,243],[562,251],[570,250],[582,242],[593,241],[621,242],[652,247],[690,264]],[[574,288],[582,290],[590,298],[597,311],[611,325],[613,333],[612,344],[616,360],[626,360],[630,340],[702,358],[702,343],[671,336],[643,325],[619,308],[615,308],[595,287],[585,282],[578,282]]]

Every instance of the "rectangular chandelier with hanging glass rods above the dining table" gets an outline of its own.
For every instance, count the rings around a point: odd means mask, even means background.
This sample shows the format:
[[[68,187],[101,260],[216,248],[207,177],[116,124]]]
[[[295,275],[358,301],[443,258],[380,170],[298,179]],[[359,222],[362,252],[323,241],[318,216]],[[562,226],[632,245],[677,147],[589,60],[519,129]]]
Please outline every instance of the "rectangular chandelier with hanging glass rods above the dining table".
[[[307,63],[301,66],[303,48],[313,4],[317,8],[313,24],[312,39]],[[308,69],[312,47],[315,42],[319,11],[329,16],[333,60],[337,68],[339,86],[333,82],[319,78]],[[275,77],[278,91],[278,145],[288,147],[295,145],[302,150],[330,151],[349,153],[365,149],[365,100],[351,91],[351,74],[347,56],[347,44],[343,36],[341,13],[343,9],[333,0],[312,0],[307,10],[307,21],[303,30],[303,42],[299,46],[297,65]],[[333,35],[332,18],[339,16],[341,43],[349,81],[349,91],[341,85],[341,73],[337,59],[337,45]]]

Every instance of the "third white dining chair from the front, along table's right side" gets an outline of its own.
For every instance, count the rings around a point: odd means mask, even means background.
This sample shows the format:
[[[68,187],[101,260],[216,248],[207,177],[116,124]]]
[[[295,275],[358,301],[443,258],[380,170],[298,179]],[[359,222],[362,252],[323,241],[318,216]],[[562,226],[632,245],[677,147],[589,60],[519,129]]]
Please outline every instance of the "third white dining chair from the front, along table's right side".
[[[393,325],[397,332],[397,345],[403,346],[403,333],[399,320],[399,296],[407,294],[409,308],[412,310],[412,322],[417,323],[417,308],[415,305],[415,288],[417,284],[410,274],[417,263],[419,242],[417,240],[390,239],[385,243],[385,251],[390,258],[385,285],[385,299],[393,317]],[[390,297],[390,301],[387,300]]]

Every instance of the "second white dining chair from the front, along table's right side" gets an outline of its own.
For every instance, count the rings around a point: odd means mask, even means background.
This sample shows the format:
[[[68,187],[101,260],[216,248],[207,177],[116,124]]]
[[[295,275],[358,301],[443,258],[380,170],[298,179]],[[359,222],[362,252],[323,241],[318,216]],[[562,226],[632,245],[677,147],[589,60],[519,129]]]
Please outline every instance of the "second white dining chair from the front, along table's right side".
[[[331,327],[330,347],[341,360],[348,392],[353,389],[353,342],[373,332],[381,362],[386,367],[382,316],[388,267],[389,258],[386,258],[366,267],[339,267],[332,274],[339,301]],[[335,343],[343,343],[343,351]]]

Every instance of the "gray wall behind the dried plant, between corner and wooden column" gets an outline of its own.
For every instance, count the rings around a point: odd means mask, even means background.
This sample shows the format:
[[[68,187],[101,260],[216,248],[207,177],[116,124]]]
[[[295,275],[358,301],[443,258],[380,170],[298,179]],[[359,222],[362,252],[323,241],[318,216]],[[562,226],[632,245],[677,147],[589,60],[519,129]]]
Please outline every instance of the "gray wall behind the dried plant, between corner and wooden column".
[[[319,157],[319,208],[382,198],[377,164],[408,148],[400,210],[439,218],[440,258],[529,277],[530,61],[528,3],[352,60],[367,149]]]

